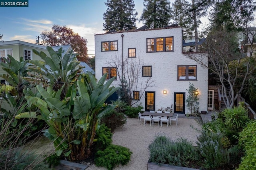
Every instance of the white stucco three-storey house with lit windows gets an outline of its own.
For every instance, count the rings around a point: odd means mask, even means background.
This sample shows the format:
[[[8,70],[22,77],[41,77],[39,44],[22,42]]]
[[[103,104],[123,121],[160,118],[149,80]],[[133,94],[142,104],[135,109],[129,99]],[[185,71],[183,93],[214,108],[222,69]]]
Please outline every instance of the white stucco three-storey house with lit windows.
[[[139,86],[134,89],[134,100],[139,100],[136,104],[142,105],[145,111],[157,111],[173,105],[174,113],[188,113],[185,99],[189,82],[198,88],[199,111],[207,111],[208,69],[182,53],[181,27],[95,34],[96,79],[99,80],[104,73],[108,73],[108,79],[117,76],[117,68],[111,67],[110,63],[122,58],[130,63],[141,62],[138,84],[145,83],[149,77],[154,80],[155,84],[143,94],[140,94]],[[120,69],[118,71],[121,72]],[[120,84],[119,78],[112,83],[116,87]]]

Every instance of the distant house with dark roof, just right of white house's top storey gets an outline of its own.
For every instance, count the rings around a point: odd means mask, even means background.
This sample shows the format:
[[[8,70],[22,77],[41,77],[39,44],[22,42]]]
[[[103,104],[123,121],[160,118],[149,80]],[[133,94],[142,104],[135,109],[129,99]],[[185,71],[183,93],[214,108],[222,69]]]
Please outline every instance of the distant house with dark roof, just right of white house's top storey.
[[[205,42],[206,38],[199,38],[198,39],[198,47],[202,46],[202,44]],[[187,52],[189,50],[196,51],[196,40],[195,37],[188,37],[185,40],[183,40],[183,52]],[[199,50],[200,51],[200,50]]]

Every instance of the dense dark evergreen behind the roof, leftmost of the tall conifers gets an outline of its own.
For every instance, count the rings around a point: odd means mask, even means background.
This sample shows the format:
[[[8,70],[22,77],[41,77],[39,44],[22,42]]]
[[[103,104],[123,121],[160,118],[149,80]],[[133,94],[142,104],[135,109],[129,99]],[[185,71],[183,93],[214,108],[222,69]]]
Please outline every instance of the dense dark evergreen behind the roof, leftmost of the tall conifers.
[[[110,30],[131,30],[136,28],[136,16],[138,15],[134,9],[134,0],[107,0],[106,12],[103,14],[105,24],[104,31]]]

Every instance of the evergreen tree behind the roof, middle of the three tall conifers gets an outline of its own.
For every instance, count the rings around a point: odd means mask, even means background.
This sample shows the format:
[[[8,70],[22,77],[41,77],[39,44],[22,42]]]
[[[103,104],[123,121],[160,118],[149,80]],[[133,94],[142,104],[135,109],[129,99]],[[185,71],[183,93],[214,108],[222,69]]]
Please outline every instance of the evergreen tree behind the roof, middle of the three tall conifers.
[[[169,0],[144,0],[144,9],[140,17],[148,28],[163,28],[170,23],[170,2]]]

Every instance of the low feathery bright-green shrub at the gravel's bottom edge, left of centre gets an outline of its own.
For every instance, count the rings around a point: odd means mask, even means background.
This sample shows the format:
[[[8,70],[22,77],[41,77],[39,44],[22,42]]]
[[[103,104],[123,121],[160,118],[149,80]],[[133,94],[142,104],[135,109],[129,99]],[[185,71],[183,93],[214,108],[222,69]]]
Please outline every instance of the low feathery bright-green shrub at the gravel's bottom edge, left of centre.
[[[131,155],[130,149],[111,144],[105,150],[96,152],[95,164],[112,170],[118,164],[126,165]]]

